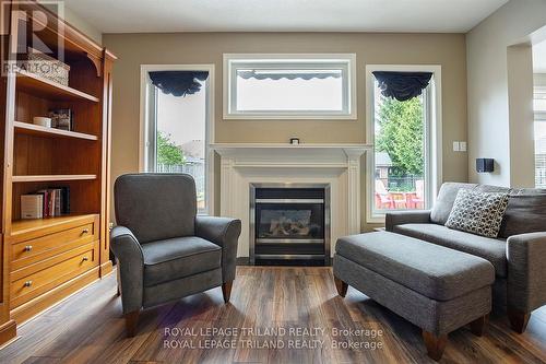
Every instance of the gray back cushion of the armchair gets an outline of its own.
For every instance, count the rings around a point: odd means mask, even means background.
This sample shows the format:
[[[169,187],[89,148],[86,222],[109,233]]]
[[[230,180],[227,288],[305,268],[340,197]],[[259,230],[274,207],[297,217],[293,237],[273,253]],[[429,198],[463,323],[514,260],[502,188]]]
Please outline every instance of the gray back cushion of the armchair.
[[[128,174],[116,179],[116,221],[139,243],[193,236],[195,183],[185,174]]]

